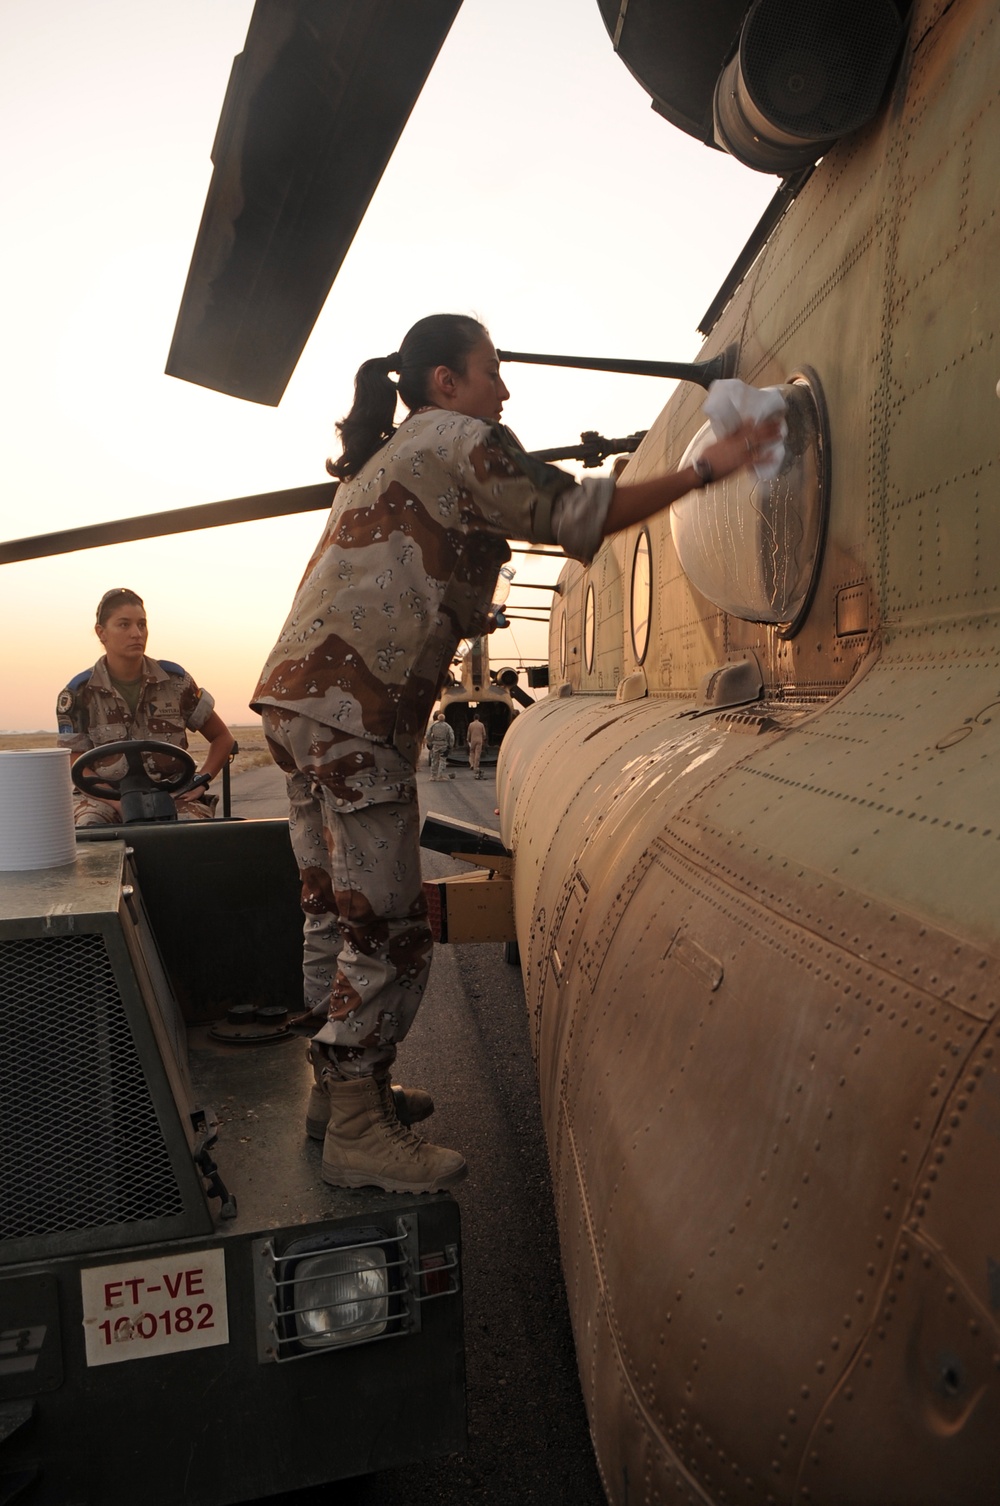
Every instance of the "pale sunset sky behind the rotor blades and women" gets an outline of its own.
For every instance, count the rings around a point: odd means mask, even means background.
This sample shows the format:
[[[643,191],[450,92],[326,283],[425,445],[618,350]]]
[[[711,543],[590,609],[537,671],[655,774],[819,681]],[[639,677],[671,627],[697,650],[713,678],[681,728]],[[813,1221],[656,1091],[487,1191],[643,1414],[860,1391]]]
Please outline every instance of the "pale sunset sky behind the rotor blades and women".
[[[511,349],[690,360],[774,191],[654,114],[595,0],[465,0],[280,407],[193,387],[163,367],[252,8],[5,0],[5,538],[322,480],[357,366],[425,313],[476,313]],[[648,428],[670,395],[545,367],[505,378],[529,449]],[[0,566],[0,729],[54,727],[56,694],[98,657],[95,604],[122,584],[145,598],[149,652],[250,720],[321,523]],[[557,574],[515,565],[518,581]],[[520,623],[495,652],[544,645]]]

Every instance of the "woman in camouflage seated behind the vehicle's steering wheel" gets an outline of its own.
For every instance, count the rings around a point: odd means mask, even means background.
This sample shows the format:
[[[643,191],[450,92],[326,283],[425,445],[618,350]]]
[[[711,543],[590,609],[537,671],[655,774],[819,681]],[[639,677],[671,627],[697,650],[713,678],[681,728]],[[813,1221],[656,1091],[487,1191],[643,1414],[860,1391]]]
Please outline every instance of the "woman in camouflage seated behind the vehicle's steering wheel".
[[[233,738],[215,711],[206,690],[199,690],[187,670],[169,660],[146,658],[146,608],[134,590],[108,590],[98,602],[93,631],[104,646],[93,669],[75,675],[56,702],[59,747],[74,758],[104,742],[154,738],[187,748],[187,733],[200,732],[208,753],[200,774],[220,771]],[[155,777],[157,761],[145,758]],[[164,761],[164,771],[167,770]],[[74,789],[74,819],[78,827],[113,827],[122,819],[116,800],[98,800]],[[217,795],[199,786],[188,795],[175,795],[178,819],[211,821]]]

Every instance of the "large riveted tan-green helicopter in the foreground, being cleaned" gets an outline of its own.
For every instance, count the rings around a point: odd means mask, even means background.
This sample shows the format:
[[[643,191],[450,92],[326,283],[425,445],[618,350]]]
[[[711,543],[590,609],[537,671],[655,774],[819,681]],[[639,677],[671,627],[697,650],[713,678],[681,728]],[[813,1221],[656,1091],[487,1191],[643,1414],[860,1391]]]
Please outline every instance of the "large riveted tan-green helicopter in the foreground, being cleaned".
[[[995,6],[599,8],[654,108],[780,178],[627,474],[697,455],[712,376],[789,407],[774,482],[565,568],[551,693],[498,764],[604,1485],[992,1503]],[[377,11],[258,0],[175,375],[280,399],[458,0],[396,6],[370,48]],[[274,139],[334,53],[340,92]]]

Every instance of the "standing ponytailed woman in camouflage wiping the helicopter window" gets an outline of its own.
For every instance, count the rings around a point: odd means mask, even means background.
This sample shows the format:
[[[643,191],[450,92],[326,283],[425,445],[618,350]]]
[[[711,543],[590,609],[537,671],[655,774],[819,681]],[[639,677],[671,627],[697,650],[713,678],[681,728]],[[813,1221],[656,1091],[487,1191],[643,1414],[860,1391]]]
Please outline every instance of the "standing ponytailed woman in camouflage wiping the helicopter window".
[[[500,426],[509,396],[488,331],[464,315],[420,319],[398,352],[364,361],[328,462],[342,485],[252,700],[288,776],[307,1003],[328,992],[309,1123],[325,1120],[334,1187],[435,1191],[465,1175],[456,1151],[410,1128],[432,1105],[393,1095],[390,1068],[431,965],[420,738],[459,640],[486,630],[506,539],[589,563],[607,535],[755,464],[780,437],[777,420],[744,423],[682,471],[577,482]],[[408,411],[395,428],[398,401]]]

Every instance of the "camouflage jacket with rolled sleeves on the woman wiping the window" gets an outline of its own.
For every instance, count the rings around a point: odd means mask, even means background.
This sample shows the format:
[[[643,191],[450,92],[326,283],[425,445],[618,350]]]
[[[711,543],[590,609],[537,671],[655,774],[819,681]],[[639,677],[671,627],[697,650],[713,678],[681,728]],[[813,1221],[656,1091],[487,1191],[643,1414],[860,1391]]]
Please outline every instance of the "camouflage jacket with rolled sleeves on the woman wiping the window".
[[[580,491],[572,476],[495,425],[441,408],[411,414],[339,486],[253,709],[395,744],[416,764],[459,640],[485,630],[506,539],[559,542],[553,505],[568,489]]]

